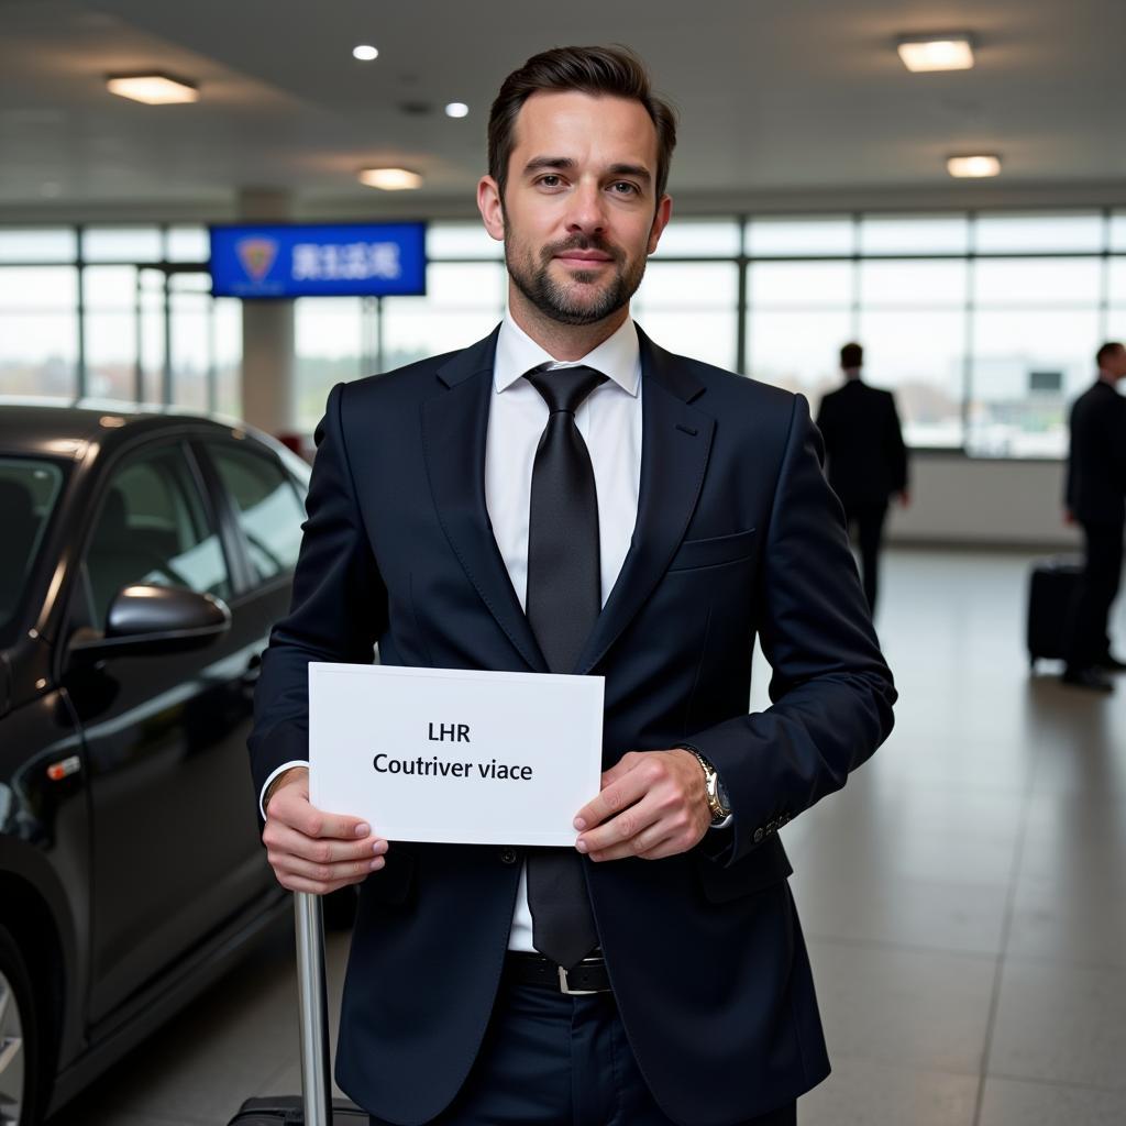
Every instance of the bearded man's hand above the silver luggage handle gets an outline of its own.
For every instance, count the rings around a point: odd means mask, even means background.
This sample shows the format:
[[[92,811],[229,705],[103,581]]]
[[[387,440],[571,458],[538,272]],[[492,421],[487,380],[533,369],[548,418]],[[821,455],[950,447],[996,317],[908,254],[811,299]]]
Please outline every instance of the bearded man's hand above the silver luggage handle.
[[[360,884],[386,861],[387,842],[359,817],[323,813],[309,801],[309,770],[294,767],[266,805],[266,857],[283,887],[328,895]]]

